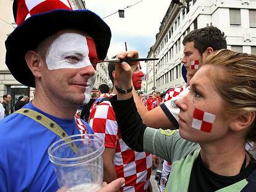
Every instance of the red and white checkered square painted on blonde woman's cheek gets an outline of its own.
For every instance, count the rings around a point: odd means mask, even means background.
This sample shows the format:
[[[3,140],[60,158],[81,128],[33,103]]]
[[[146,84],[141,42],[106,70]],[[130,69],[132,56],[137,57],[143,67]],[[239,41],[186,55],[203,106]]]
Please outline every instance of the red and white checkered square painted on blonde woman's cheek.
[[[195,109],[193,113],[192,128],[210,133],[216,115]]]

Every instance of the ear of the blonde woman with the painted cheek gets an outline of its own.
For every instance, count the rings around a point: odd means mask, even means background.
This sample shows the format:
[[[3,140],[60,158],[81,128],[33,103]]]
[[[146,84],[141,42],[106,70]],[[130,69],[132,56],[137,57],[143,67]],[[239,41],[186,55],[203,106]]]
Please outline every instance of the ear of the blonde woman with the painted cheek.
[[[255,120],[255,112],[244,112],[241,115],[237,115],[230,123],[230,128],[233,131],[245,130],[247,127],[250,127]]]

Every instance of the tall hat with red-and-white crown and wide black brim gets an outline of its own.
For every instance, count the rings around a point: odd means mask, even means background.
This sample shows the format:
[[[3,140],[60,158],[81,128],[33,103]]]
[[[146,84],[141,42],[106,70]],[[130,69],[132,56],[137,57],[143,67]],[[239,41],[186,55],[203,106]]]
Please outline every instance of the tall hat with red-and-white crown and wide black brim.
[[[59,30],[84,31],[95,41],[98,58],[105,59],[111,31],[92,11],[72,10],[68,0],[14,0],[12,8],[18,26],[6,40],[6,65],[23,85],[35,87],[25,54]]]

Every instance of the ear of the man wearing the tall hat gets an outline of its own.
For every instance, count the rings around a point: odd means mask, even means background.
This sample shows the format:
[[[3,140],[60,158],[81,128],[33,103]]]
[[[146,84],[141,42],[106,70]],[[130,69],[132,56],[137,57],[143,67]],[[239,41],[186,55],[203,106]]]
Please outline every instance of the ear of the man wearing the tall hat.
[[[28,68],[31,70],[35,77],[41,77],[41,64],[42,61],[40,55],[35,51],[28,51],[25,55],[25,61]]]

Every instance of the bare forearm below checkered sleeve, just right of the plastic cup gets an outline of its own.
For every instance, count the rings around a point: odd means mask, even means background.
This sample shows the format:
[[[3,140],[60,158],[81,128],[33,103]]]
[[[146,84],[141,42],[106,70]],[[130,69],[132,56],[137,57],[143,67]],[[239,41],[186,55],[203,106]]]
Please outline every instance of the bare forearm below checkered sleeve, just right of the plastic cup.
[[[103,152],[103,169],[104,169],[104,178],[103,180],[107,183],[113,182],[117,178],[116,169],[114,169],[113,159],[114,148],[105,148]]]

